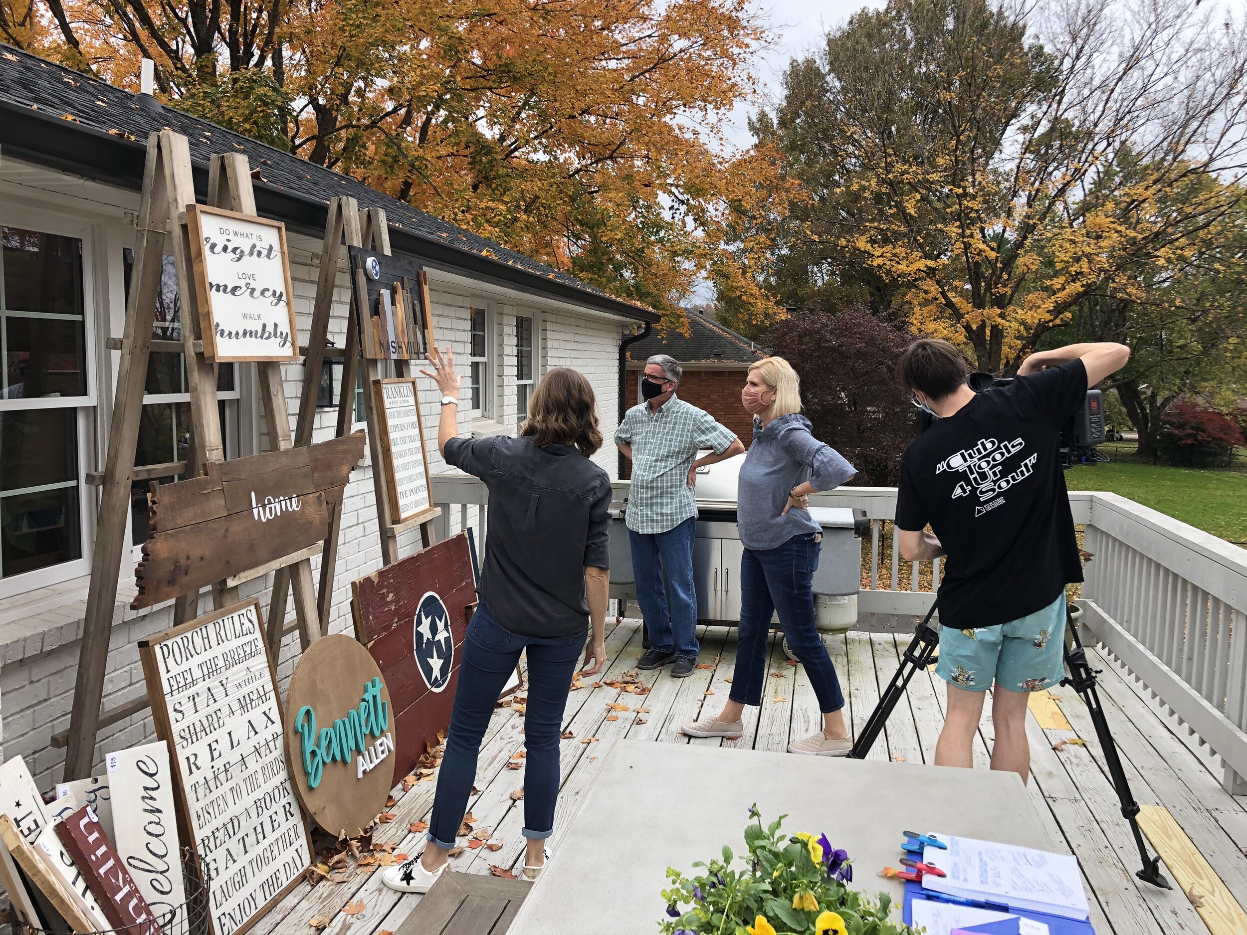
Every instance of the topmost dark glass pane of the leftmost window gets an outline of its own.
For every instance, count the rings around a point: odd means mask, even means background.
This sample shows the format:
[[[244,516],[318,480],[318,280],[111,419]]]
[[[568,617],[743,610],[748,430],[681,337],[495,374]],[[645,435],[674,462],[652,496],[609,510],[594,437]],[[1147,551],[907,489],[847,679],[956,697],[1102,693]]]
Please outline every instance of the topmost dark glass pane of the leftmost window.
[[[82,314],[82,242],[0,227],[4,307],[9,312]]]

